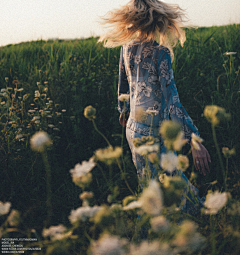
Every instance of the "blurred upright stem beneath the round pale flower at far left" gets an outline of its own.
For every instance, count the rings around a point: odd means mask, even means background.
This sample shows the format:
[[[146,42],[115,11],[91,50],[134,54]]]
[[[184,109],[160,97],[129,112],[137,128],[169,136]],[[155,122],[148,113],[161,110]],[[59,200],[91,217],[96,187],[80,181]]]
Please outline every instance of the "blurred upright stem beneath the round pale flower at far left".
[[[45,227],[47,227],[47,225],[50,224],[51,217],[52,217],[52,203],[51,203],[52,191],[51,191],[51,168],[50,168],[50,165],[49,165],[49,162],[48,162],[46,150],[44,150],[42,152],[42,158],[43,158],[43,163],[44,163],[44,166],[45,166],[45,169],[46,169],[47,219],[45,221]]]

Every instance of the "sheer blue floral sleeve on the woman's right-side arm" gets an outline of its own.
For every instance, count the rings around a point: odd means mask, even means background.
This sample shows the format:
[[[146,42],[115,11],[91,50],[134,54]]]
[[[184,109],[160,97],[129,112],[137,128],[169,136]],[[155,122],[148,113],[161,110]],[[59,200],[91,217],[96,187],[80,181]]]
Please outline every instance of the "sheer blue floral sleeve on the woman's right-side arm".
[[[164,112],[170,115],[171,120],[178,121],[182,125],[185,138],[191,140],[191,134],[199,136],[197,127],[182,106],[173,77],[170,52],[162,52],[158,61],[159,81],[161,85]]]

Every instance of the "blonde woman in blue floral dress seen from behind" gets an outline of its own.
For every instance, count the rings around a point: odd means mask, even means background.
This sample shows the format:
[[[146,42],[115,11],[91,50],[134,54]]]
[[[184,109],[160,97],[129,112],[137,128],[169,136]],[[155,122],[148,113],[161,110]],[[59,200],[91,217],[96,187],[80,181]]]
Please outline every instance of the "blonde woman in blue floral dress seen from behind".
[[[121,125],[126,125],[126,136],[139,177],[143,174],[146,162],[144,157],[136,153],[133,139],[149,134],[159,135],[161,123],[169,119],[182,125],[185,138],[192,147],[196,169],[204,175],[209,172],[208,151],[201,143],[200,150],[192,146],[191,134],[199,135],[199,132],[180,103],[173,77],[171,45],[180,40],[183,46],[186,40],[180,28],[183,18],[184,13],[178,6],[158,0],[132,0],[104,18],[104,23],[113,25],[113,30],[103,35],[100,41],[104,41],[106,47],[123,45],[119,61],[118,95],[129,94],[130,100],[125,107],[123,102],[118,101],[119,121]],[[154,111],[156,115],[143,114],[148,111]],[[145,118],[142,118],[143,115]],[[160,153],[166,152],[161,137],[160,145]],[[157,171],[152,164],[150,169],[154,177]],[[199,206],[203,205],[204,198],[199,197],[198,190],[181,174],[188,185],[185,193],[194,201],[190,188],[199,201],[198,206],[192,206],[189,200],[185,200],[181,209],[195,214]]]

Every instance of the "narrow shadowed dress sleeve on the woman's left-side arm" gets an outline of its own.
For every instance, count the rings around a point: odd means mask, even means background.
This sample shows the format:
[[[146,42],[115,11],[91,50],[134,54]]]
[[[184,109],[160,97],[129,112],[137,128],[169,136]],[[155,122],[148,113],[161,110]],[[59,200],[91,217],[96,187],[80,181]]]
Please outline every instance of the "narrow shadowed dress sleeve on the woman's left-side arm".
[[[123,47],[121,48],[120,52],[120,60],[119,60],[119,81],[118,81],[118,97],[121,94],[129,94],[129,83],[127,79],[126,69],[124,65],[124,59],[123,59]],[[118,111],[120,113],[125,113],[130,111],[130,105],[129,102],[125,102],[125,109],[124,109],[124,103],[118,100]]]

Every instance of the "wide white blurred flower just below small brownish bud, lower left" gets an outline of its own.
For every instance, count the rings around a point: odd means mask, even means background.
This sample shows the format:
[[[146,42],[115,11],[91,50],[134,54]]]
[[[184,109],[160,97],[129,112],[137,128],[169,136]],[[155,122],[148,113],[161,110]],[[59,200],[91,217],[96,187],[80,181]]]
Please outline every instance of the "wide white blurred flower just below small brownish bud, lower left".
[[[100,206],[79,207],[76,210],[72,210],[68,218],[72,224],[79,220],[86,221],[87,218],[92,218],[99,210],[101,210]]]

